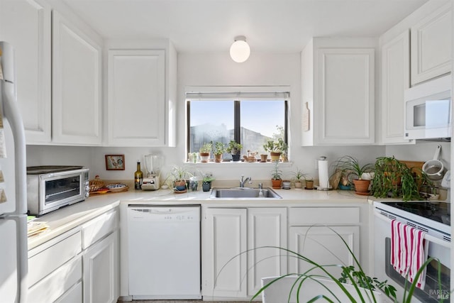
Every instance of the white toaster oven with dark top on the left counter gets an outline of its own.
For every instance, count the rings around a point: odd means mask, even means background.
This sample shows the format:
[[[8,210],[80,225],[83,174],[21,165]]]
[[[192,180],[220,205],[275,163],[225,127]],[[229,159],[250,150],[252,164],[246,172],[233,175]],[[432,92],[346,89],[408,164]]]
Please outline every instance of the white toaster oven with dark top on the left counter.
[[[27,167],[28,214],[41,216],[89,197],[89,169],[82,166]]]

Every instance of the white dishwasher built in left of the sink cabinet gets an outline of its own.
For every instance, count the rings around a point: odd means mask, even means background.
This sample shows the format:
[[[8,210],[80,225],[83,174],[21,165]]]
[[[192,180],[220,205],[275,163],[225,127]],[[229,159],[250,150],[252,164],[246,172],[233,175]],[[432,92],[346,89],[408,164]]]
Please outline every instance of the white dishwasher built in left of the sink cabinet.
[[[200,299],[200,206],[128,206],[129,295]]]

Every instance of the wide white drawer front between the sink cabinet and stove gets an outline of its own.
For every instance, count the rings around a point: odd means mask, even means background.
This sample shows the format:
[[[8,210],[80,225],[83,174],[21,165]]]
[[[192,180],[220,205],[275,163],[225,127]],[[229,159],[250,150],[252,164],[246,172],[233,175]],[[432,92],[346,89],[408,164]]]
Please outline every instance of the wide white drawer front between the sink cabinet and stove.
[[[292,207],[289,209],[291,226],[313,224],[360,224],[359,207]]]

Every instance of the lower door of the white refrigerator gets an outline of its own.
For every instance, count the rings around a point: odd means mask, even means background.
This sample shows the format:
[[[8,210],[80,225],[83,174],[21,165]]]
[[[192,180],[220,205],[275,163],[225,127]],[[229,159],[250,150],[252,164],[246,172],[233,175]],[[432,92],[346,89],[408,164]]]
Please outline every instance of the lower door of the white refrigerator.
[[[27,216],[0,219],[0,301],[26,302]],[[25,249],[24,249],[25,248]]]

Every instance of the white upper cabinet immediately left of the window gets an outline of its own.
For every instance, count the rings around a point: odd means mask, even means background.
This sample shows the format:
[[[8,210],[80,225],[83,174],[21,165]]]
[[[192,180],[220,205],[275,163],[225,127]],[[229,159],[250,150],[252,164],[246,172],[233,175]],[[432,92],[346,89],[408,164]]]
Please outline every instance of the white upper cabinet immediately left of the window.
[[[175,146],[177,51],[170,40],[107,46],[106,145]]]

